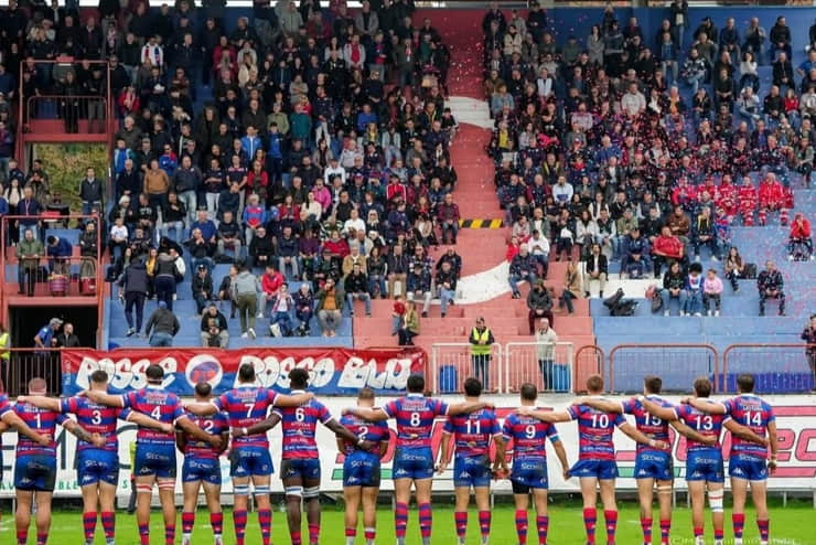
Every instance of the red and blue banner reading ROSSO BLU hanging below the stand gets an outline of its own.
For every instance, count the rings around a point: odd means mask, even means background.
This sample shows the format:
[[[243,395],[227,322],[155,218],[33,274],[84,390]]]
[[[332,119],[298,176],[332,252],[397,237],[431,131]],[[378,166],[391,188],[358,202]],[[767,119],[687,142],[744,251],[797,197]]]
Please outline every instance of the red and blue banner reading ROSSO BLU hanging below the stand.
[[[251,363],[258,383],[286,392],[288,372],[309,371],[309,388],[318,395],[355,395],[362,387],[377,394],[405,392],[408,376],[423,373],[421,350],[316,349],[167,349],[167,350],[65,350],[62,352],[63,393],[87,389],[94,371],[110,377],[110,392],[124,393],[144,387],[144,370],[151,364],[164,367],[163,387],[180,396],[192,396],[195,385],[207,382],[216,394],[233,388],[238,367]]]

